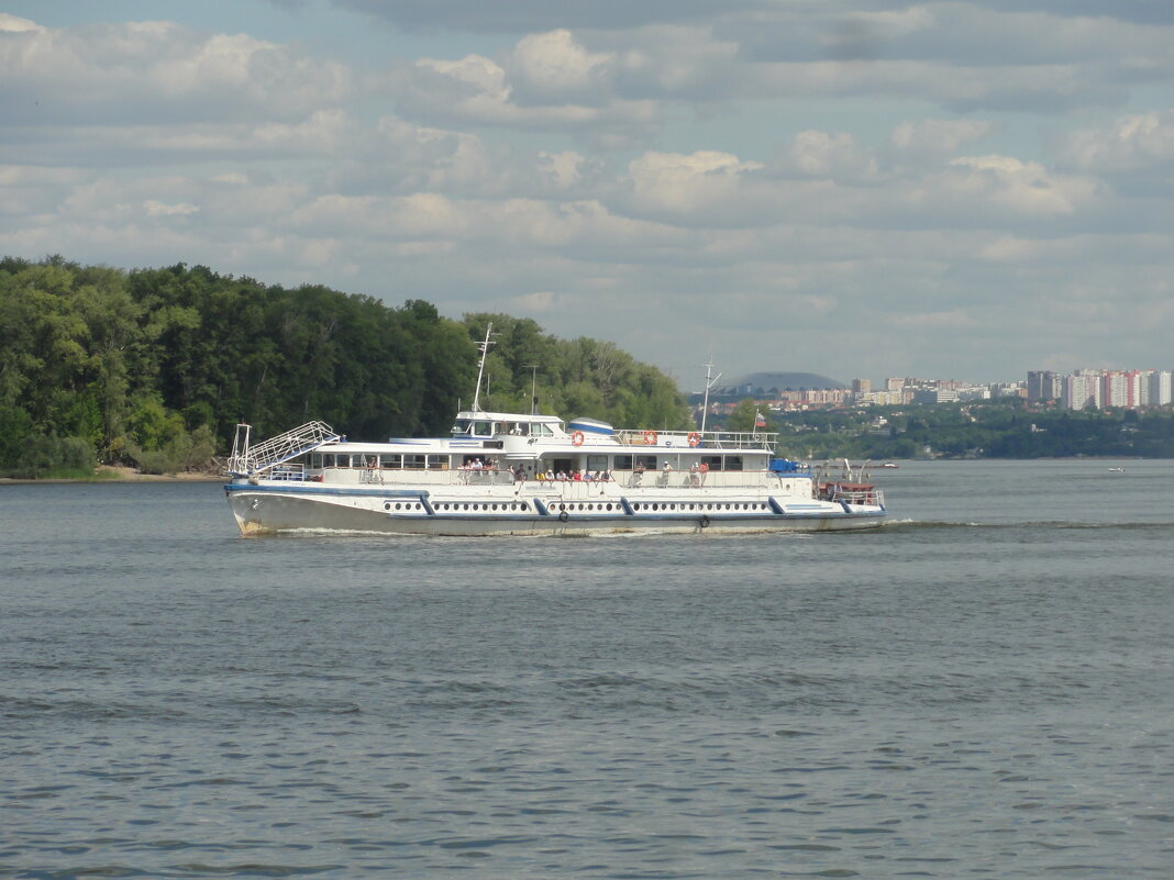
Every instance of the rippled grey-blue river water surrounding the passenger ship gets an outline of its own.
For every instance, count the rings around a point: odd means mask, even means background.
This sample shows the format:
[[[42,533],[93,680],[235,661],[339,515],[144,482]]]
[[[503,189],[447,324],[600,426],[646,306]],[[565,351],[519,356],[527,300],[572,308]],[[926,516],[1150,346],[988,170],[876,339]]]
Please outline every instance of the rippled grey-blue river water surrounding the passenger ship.
[[[1174,462],[873,476],[576,540],[0,487],[0,875],[1170,876]]]

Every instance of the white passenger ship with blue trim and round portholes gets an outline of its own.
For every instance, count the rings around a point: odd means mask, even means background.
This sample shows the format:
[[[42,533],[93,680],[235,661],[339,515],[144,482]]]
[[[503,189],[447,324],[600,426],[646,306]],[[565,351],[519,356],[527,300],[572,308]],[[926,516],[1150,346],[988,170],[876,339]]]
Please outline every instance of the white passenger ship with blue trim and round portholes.
[[[578,535],[861,529],[885,516],[859,475],[824,480],[776,459],[776,434],[616,431],[477,400],[446,438],[355,442],[310,422],[251,446],[239,425],[224,487],[237,526]]]

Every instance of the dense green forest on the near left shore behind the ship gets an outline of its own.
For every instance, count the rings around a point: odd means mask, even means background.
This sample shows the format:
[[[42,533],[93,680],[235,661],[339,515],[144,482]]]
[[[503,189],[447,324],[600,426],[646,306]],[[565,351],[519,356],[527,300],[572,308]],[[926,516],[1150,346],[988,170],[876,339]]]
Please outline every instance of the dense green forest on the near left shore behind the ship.
[[[528,318],[441,317],[321,285],[286,289],[207,266],[124,271],[60,256],[0,259],[0,475],[210,467],[235,425],[311,419],[356,439],[444,434],[472,402],[493,323],[486,409],[684,428],[675,383],[607,341]]]

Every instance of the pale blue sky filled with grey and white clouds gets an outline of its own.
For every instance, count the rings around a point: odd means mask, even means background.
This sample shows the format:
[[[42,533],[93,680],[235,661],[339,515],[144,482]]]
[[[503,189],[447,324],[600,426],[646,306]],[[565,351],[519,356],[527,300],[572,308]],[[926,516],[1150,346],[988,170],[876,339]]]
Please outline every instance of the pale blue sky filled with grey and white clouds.
[[[0,253],[703,385],[1174,367],[1170,0],[0,0]]]

